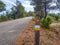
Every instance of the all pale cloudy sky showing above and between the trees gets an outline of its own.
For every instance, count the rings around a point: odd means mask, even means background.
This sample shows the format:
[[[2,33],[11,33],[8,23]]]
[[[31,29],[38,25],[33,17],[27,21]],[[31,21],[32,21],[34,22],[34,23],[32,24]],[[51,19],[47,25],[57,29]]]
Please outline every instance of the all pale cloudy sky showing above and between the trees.
[[[16,2],[16,0],[2,0],[2,1],[6,4],[7,10],[10,10],[10,8],[12,7],[12,5],[16,6],[16,4],[14,3],[14,2]],[[25,10],[27,12],[34,11],[33,6],[30,5],[30,1],[28,1],[28,0],[19,0],[19,1],[21,1],[22,5],[25,7]],[[51,6],[52,7],[56,6],[56,1],[57,0],[53,0],[52,3],[51,3],[51,5],[50,5],[50,7]],[[52,13],[52,12],[53,13],[59,13],[60,11],[59,10],[51,10],[50,13]]]

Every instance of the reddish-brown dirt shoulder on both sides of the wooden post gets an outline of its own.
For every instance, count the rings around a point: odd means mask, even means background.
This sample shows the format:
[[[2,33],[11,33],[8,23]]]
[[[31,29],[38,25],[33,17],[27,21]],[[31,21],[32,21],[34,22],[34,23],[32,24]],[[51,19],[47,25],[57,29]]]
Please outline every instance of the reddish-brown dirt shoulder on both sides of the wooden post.
[[[29,23],[21,36],[17,38],[15,45],[35,45],[34,25],[34,22]],[[41,27],[40,45],[60,45],[60,33],[54,29],[45,29]]]

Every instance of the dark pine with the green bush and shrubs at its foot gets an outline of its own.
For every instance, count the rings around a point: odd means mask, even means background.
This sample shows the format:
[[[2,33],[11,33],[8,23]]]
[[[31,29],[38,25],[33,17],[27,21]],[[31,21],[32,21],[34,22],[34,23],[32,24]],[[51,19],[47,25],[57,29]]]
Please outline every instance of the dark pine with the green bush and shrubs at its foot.
[[[40,25],[45,28],[49,28],[52,23],[60,23],[60,13],[49,13],[50,10],[54,10],[55,7],[50,7],[52,0],[32,0],[31,5],[35,6],[34,10],[36,15],[40,17]],[[52,5],[52,4],[51,4]],[[57,7],[57,6],[56,6]],[[46,10],[49,10],[48,12]]]

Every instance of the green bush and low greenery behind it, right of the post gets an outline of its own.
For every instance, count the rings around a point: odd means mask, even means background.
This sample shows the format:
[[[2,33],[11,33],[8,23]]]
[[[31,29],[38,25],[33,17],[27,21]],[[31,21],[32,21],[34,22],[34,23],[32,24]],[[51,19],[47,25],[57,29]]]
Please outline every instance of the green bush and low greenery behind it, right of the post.
[[[52,23],[60,23],[60,14],[49,14],[46,19],[42,18],[40,22],[45,28],[49,28]]]

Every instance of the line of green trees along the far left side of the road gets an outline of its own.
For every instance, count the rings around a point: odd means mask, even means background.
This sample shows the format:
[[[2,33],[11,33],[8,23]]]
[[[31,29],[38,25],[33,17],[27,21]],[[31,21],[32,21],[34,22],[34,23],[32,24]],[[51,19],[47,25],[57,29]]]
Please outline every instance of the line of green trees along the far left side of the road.
[[[6,11],[6,14],[0,15],[0,22],[34,15],[34,12],[26,12],[20,1],[17,0],[16,5],[7,11],[6,5],[0,0],[0,12]]]

